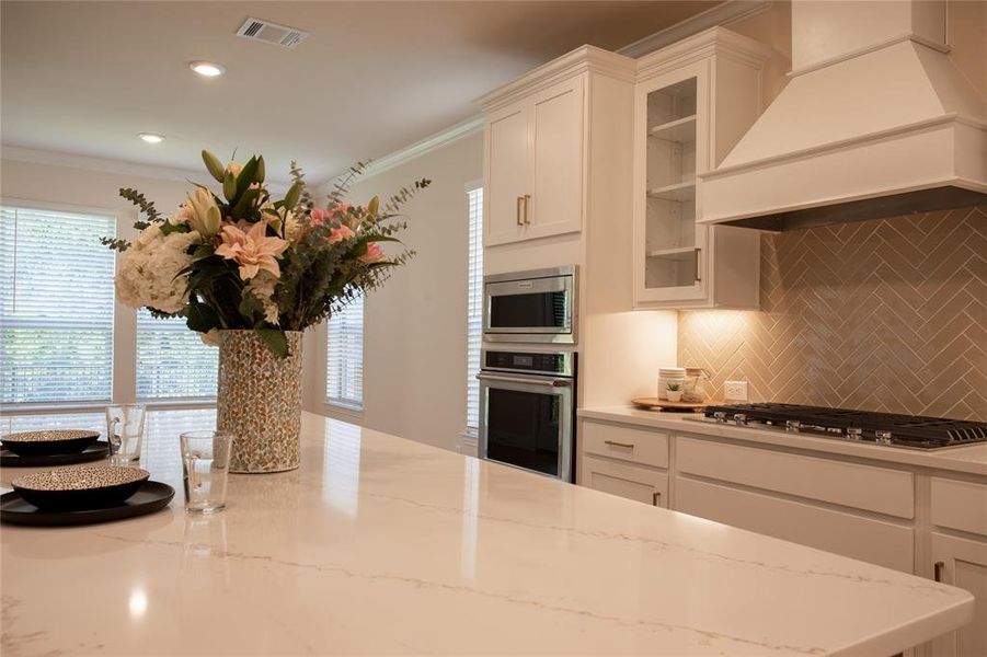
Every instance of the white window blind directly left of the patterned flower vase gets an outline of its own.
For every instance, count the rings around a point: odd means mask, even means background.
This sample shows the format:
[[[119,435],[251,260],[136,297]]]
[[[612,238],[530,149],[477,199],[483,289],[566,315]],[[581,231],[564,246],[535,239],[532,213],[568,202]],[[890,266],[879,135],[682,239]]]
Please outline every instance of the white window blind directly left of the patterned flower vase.
[[[137,399],[213,400],[219,349],[203,343],[183,318],[137,312]]]

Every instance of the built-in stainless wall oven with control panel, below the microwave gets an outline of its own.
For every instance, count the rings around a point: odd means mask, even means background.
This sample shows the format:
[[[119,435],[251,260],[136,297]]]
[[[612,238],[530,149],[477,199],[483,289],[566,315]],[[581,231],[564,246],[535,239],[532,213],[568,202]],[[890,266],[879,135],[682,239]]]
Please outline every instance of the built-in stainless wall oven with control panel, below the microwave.
[[[573,481],[575,351],[483,349],[481,459]]]

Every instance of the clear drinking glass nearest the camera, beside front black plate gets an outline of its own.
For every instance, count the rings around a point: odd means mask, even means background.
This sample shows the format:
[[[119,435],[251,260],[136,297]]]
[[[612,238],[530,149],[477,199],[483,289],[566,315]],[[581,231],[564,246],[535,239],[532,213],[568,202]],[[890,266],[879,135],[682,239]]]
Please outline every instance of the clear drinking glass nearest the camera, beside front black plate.
[[[226,482],[233,435],[227,431],[182,434],[185,510],[215,514],[226,508]]]

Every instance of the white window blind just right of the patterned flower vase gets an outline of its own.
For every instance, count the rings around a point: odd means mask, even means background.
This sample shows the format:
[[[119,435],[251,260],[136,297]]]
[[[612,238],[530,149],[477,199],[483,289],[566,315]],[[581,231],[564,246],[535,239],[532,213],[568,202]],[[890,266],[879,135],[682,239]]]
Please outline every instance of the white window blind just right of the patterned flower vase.
[[[348,408],[364,406],[364,298],[329,319],[325,397]]]

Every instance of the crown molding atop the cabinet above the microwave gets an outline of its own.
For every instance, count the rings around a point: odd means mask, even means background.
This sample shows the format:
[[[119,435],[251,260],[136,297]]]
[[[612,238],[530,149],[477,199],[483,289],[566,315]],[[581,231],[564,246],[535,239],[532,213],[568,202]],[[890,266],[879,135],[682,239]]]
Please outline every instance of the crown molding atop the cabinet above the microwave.
[[[532,69],[523,78],[500,87],[474,102],[483,111],[495,112],[553,84],[593,71],[623,82],[634,82],[634,60],[596,46],[581,46],[562,57]]]

